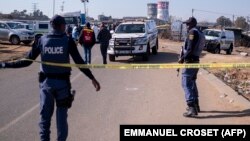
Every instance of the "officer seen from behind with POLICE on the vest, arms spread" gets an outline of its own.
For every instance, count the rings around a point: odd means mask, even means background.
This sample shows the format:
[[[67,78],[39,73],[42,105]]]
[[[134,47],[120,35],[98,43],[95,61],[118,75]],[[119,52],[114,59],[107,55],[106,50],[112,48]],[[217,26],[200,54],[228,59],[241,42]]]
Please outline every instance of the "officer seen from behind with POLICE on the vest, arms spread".
[[[70,57],[77,64],[86,64],[72,38],[65,33],[65,20],[59,15],[51,19],[53,31],[48,35],[36,39],[27,59],[35,60],[41,54],[41,61],[54,63],[69,63]],[[21,68],[31,65],[31,61],[20,60],[16,62],[2,63],[2,68]],[[100,85],[89,69],[80,69],[92,83],[96,91]],[[40,138],[41,141],[50,140],[51,117],[56,101],[57,140],[65,141],[68,136],[67,112],[71,107],[73,97],[71,95],[70,73],[71,68],[57,67],[41,64],[39,73],[40,82]]]

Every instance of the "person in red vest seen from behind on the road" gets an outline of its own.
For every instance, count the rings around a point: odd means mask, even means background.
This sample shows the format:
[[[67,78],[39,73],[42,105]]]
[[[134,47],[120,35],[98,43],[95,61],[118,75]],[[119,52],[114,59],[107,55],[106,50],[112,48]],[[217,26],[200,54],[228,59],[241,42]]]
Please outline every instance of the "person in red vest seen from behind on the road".
[[[90,23],[86,23],[86,27],[81,31],[79,43],[83,46],[85,61],[91,64],[91,49],[96,43],[95,32],[91,29]]]

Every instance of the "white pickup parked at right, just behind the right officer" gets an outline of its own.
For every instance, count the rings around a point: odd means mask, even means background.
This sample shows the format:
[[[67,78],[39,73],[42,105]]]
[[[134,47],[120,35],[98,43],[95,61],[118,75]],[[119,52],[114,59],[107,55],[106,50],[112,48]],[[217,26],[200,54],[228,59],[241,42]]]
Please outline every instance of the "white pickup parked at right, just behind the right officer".
[[[203,33],[206,38],[204,50],[220,54],[221,50],[231,54],[234,48],[234,32],[220,29],[205,29]]]

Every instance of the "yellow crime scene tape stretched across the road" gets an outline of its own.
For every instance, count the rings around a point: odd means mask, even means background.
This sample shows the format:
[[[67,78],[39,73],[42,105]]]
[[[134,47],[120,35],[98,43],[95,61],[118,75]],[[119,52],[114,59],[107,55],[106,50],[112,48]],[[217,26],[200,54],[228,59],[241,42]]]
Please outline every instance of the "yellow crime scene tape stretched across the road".
[[[182,69],[182,68],[250,68],[250,63],[200,63],[200,64],[65,64],[22,59],[49,66],[89,69]]]

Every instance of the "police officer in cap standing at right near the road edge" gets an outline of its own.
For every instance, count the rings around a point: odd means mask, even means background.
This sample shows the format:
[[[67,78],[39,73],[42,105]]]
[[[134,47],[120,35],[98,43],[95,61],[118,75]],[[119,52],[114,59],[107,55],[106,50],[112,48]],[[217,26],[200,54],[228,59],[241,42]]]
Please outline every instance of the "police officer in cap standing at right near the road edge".
[[[204,36],[202,36],[203,33],[196,28],[197,20],[194,17],[190,17],[184,23],[187,25],[188,35],[178,62],[199,63],[204,40]],[[182,87],[188,105],[187,112],[183,114],[184,117],[194,117],[200,112],[198,89],[196,85],[198,71],[199,69],[196,68],[182,70]]]

